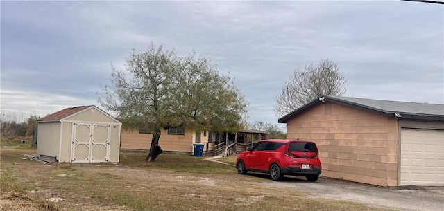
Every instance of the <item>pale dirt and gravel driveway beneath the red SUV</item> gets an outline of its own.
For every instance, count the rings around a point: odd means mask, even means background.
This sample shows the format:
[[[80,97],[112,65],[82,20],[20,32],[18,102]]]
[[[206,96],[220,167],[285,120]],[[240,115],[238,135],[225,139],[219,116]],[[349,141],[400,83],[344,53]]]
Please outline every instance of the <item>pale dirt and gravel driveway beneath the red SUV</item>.
[[[259,176],[260,174],[250,174]],[[316,183],[302,177],[285,177],[282,182],[255,183],[272,187],[294,188],[308,192],[308,197],[355,201],[380,208],[396,210],[444,210],[444,187],[377,187],[331,178],[319,178]]]

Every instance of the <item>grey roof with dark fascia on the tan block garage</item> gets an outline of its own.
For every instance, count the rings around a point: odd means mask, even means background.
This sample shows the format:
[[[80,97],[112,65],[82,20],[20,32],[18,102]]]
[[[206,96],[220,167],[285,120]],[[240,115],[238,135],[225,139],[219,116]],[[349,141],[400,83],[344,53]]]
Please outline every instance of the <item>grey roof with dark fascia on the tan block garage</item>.
[[[290,118],[296,117],[298,113],[305,111],[314,104],[323,103],[322,101],[334,102],[347,107],[377,113],[382,116],[391,116],[393,118],[396,116],[397,118],[411,120],[444,121],[444,104],[399,102],[391,100],[373,100],[323,95],[303,105],[302,107],[299,107],[286,116],[283,116],[278,120],[278,122],[286,123]]]

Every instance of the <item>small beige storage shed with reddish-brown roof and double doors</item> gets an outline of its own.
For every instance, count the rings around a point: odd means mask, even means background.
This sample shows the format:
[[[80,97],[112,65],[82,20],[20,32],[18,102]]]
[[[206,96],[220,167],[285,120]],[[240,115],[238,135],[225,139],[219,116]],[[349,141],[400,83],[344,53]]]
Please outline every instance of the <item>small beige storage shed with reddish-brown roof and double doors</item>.
[[[58,163],[118,163],[121,122],[94,105],[62,109],[37,120],[37,156]]]

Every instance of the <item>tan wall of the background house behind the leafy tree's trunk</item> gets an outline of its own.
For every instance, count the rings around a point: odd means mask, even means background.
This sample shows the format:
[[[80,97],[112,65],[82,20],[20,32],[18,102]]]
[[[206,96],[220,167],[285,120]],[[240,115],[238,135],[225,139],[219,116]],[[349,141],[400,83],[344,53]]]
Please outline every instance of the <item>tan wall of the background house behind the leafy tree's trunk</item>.
[[[170,135],[167,130],[160,134],[159,146],[164,151],[192,152],[193,131],[185,131],[185,135]],[[122,130],[121,149],[149,150],[153,134],[140,134],[138,130]]]

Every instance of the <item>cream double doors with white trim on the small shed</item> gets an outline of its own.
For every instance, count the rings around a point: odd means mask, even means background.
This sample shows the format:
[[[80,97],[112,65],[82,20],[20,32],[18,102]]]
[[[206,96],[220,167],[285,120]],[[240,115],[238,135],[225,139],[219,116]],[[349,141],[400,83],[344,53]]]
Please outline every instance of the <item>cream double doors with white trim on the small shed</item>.
[[[72,163],[103,163],[110,159],[110,125],[74,123]]]

